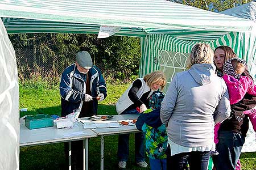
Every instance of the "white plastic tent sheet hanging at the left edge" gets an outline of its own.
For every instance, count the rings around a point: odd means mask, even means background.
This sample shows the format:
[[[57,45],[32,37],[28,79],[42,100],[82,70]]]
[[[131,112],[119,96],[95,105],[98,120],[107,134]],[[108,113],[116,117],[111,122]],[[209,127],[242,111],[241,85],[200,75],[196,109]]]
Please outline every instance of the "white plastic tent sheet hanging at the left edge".
[[[0,19],[0,169],[19,169],[19,86],[13,45]]]

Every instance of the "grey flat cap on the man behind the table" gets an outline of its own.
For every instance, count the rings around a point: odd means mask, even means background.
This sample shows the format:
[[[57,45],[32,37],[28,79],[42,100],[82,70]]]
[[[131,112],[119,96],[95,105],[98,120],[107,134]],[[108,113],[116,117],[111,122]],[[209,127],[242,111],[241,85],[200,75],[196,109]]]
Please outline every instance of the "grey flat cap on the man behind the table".
[[[78,52],[76,54],[76,62],[84,69],[90,69],[92,67],[92,58],[86,51]]]

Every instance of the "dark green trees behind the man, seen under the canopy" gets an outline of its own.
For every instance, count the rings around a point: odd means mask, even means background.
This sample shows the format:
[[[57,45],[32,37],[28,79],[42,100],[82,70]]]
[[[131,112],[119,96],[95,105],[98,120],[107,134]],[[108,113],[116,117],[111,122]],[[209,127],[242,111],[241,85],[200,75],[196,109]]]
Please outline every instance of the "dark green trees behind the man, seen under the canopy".
[[[59,77],[80,50],[87,50],[94,63],[112,80],[138,75],[141,51],[140,41],[135,37],[97,39],[97,35],[28,33],[10,35],[10,40],[17,54],[19,77],[23,79],[35,73]]]

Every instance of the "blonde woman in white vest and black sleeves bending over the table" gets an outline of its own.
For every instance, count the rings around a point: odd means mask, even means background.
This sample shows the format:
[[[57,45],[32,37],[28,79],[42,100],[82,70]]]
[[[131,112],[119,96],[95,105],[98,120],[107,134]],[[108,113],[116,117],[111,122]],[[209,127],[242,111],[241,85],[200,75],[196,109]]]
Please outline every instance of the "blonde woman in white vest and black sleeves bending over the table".
[[[166,76],[162,71],[154,71],[136,79],[123,93],[116,104],[118,114],[139,114],[147,110],[148,98],[152,92],[162,90],[166,85]],[[129,134],[118,136],[118,167],[126,168],[129,155]],[[135,133],[135,161],[140,167],[146,168],[144,159],[144,136],[142,133]]]

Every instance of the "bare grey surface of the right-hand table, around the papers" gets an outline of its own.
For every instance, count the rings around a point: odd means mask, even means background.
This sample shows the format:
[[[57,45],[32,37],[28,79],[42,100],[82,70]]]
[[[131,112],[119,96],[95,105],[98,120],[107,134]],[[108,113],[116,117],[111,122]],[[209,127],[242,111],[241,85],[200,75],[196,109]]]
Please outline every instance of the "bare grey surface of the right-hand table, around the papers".
[[[138,114],[122,114],[122,115],[114,115],[112,119],[109,121],[118,121],[118,120],[133,120],[138,118]],[[139,132],[136,128],[136,125],[133,126],[123,126],[120,125],[120,128],[97,128],[92,129],[97,135],[113,135],[113,134],[124,134],[124,133],[133,133]]]

